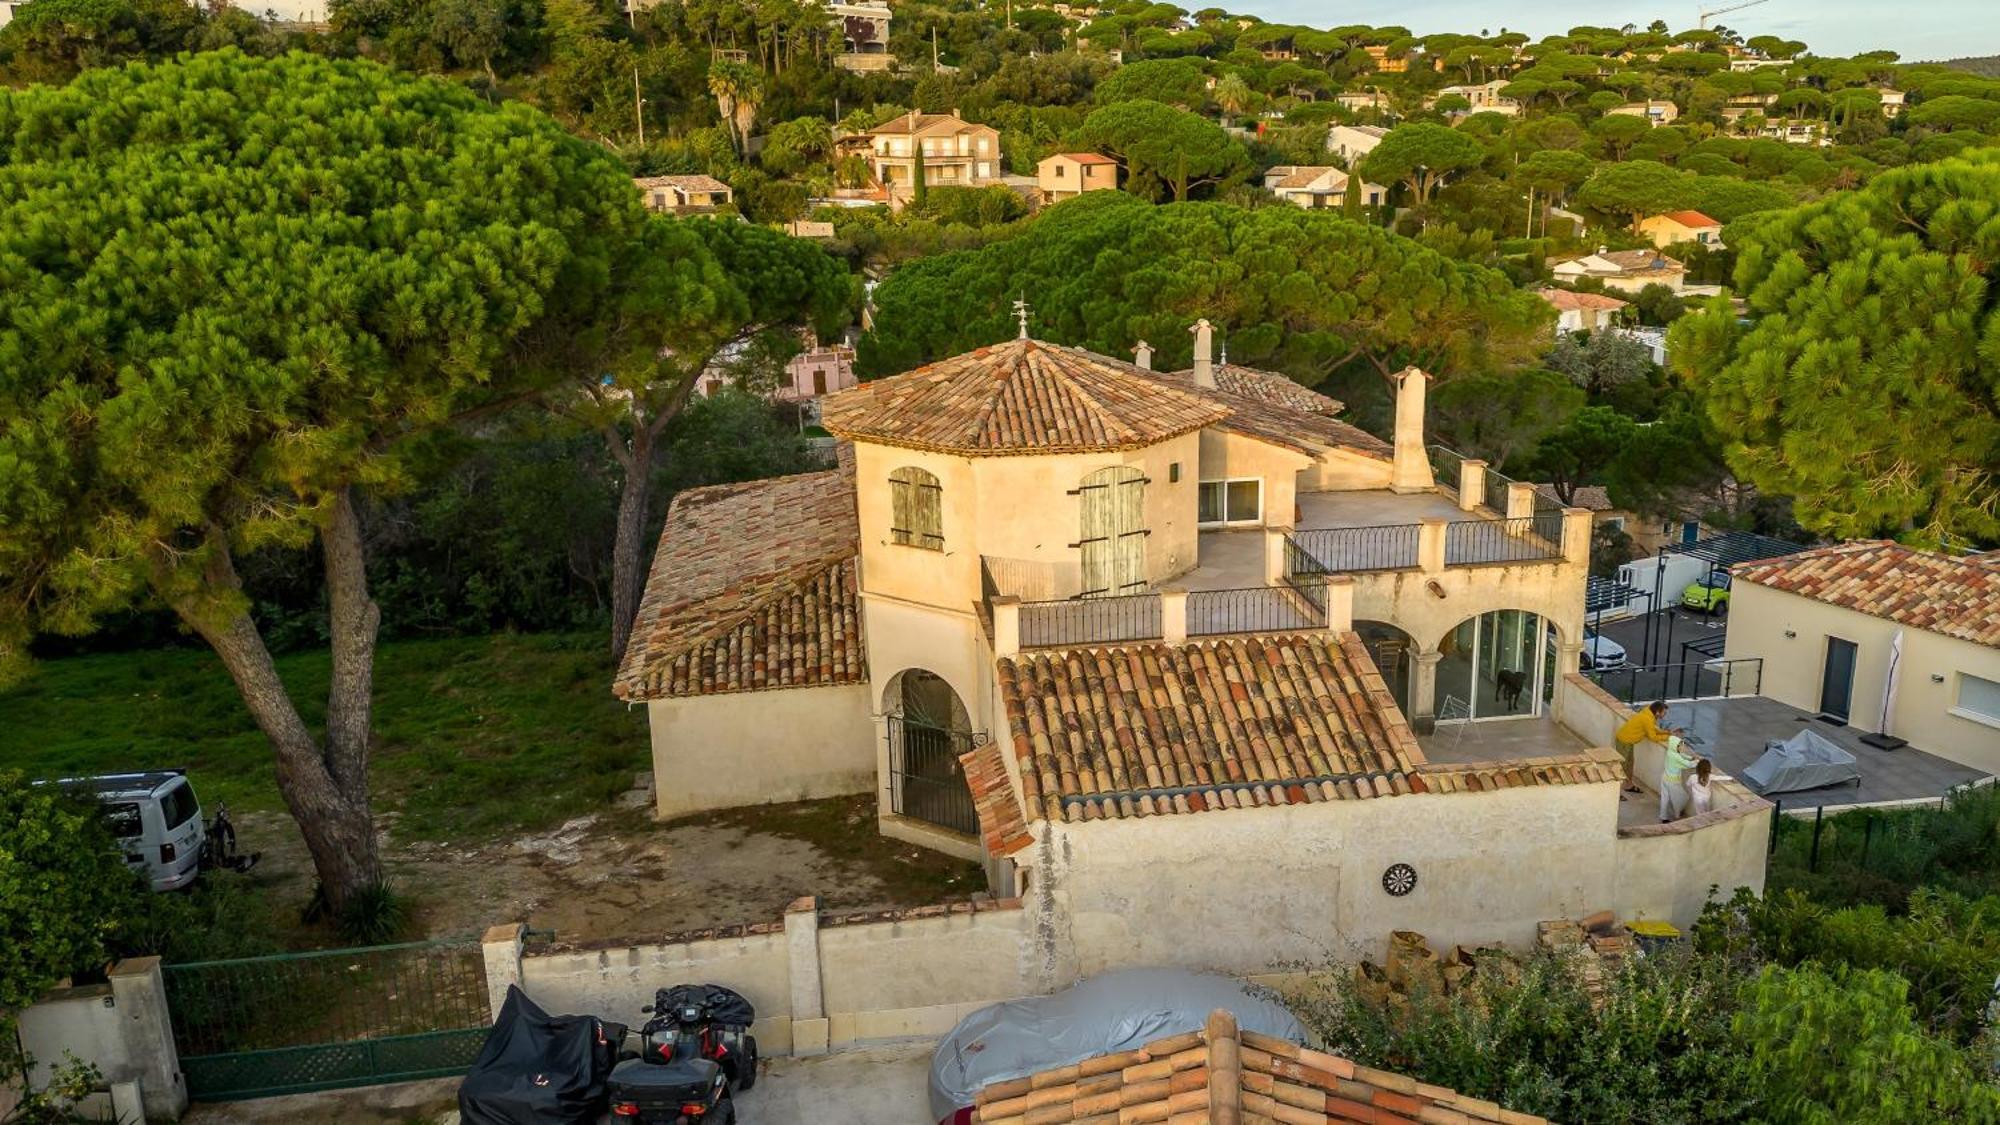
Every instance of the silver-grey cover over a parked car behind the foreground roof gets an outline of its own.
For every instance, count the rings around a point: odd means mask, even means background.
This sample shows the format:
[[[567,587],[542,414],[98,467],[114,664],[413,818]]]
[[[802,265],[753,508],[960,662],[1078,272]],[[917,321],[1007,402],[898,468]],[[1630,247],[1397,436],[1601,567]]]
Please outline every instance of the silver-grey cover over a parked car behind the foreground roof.
[[[972,1105],[988,1083],[1068,1067],[1196,1031],[1226,1009],[1246,1031],[1306,1041],[1290,1011],[1250,985],[1186,969],[1122,969],[1048,997],[1004,1001],[958,1021],[930,1057],[930,1117]]]

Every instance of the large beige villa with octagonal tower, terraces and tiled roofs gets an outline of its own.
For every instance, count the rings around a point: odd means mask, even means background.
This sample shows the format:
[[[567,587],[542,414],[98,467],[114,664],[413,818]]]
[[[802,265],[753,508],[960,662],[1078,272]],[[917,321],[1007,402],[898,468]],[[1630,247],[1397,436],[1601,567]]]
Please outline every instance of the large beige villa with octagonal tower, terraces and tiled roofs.
[[[1420,370],[1382,438],[1192,332],[1154,370],[1024,328],[830,394],[838,470],[678,496],[614,685],[658,811],[872,791],[1078,973],[1762,885],[1762,801],[1620,801],[1588,510],[1428,448]]]

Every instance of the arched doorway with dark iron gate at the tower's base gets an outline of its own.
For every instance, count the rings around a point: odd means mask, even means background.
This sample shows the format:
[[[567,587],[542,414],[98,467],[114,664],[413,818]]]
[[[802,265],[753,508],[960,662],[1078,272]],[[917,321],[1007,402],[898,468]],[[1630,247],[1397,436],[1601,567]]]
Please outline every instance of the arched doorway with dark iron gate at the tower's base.
[[[882,699],[888,715],[890,809],[898,817],[976,837],[980,817],[972,807],[958,755],[972,749],[966,705],[926,669],[890,679]]]

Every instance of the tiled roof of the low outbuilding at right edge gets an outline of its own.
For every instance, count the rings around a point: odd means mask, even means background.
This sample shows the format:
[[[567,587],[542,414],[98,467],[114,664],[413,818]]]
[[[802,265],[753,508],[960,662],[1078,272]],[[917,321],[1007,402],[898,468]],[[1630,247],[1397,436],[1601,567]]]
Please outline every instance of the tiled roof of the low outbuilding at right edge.
[[[1800,595],[1928,629],[1974,645],[2000,647],[2000,556],[1952,558],[1882,538],[1860,538],[1742,562],[1742,583]]]

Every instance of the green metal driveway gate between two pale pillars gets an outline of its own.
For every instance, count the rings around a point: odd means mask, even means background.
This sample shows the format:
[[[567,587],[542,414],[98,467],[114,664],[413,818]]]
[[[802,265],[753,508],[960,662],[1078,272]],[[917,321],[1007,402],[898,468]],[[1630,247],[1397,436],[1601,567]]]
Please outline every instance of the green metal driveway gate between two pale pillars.
[[[460,1075],[490,1023],[476,939],[166,965],[188,1097]]]

